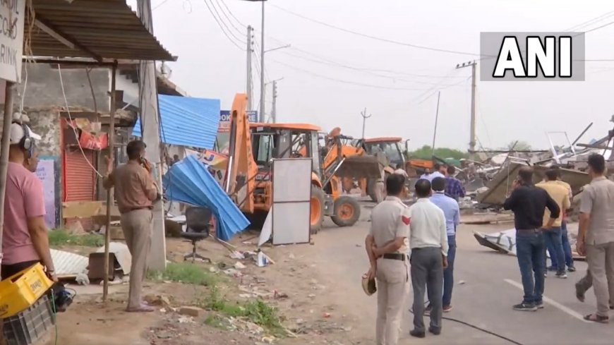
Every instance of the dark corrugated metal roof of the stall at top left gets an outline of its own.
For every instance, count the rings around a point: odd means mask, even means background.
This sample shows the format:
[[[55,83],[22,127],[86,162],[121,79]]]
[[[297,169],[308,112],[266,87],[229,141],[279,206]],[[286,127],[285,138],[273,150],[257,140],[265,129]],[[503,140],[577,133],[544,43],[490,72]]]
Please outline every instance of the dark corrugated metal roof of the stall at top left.
[[[30,20],[26,15],[24,36],[31,37],[33,56],[176,60],[150,34],[126,0],[73,0],[71,3],[32,0],[32,8],[35,20],[75,46],[67,47],[37,27],[28,32]]]

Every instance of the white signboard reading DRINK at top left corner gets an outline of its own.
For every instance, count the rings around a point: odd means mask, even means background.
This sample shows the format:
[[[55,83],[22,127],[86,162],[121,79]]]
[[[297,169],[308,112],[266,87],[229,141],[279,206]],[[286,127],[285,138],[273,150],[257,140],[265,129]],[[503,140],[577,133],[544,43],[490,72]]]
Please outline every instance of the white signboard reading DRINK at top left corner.
[[[0,78],[21,81],[25,0],[0,1]]]

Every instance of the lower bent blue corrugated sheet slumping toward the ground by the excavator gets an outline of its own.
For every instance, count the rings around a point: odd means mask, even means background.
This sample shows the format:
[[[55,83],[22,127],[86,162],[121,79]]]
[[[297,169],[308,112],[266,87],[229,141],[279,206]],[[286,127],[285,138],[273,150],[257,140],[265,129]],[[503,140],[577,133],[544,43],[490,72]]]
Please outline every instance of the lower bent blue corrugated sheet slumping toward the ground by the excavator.
[[[239,207],[219,186],[207,166],[194,155],[176,162],[162,178],[168,200],[207,207],[217,219],[217,238],[229,241],[250,224]]]

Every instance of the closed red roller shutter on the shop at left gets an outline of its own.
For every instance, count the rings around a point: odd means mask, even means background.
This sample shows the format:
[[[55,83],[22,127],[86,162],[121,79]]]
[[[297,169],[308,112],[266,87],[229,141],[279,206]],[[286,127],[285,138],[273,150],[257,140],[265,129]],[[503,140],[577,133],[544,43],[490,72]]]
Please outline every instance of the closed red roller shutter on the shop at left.
[[[94,164],[94,151],[66,150],[66,194],[65,201],[94,200],[94,171],[88,161]],[[87,158],[87,160],[86,160]]]

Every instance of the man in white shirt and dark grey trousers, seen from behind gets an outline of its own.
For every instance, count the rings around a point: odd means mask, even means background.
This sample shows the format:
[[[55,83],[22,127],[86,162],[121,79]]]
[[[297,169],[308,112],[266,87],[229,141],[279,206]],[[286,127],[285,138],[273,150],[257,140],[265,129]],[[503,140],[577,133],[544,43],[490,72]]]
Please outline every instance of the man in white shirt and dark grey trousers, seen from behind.
[[[411,218],[411,285],[414,286],[414,329],[412,337],[423,338],[424,292],[431,301],[431,325],[428,332],[441,333],[443,268],[447,266],[447,231],[443,211],[431,200],[431,182],[416,182],[418,200],[409,207]]]

